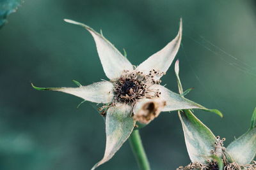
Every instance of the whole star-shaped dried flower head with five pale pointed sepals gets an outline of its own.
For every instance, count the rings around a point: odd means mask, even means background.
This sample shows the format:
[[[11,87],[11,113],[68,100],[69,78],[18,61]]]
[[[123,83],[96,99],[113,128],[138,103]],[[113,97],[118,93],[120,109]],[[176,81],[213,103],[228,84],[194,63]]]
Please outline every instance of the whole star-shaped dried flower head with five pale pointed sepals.
[[[216,110],[208,110],[160,85],[160,78],[168,70],[179,50],[182,22],[179,33],[170,43],[138,67],[134,67],[102,34],[79,22],[67,19],[65,21],[81,25],[92,34],[100,62],[109,81],[79,85],[77,88],[33,87],[36,90],[65,92],[86,101],[104,104],[100,110],[106,117],[106,150],[103,159],[95,164],[93,169],[113,157],[129,138],[136,122],[148,124],[161,111],[202,109],[221,115]]]

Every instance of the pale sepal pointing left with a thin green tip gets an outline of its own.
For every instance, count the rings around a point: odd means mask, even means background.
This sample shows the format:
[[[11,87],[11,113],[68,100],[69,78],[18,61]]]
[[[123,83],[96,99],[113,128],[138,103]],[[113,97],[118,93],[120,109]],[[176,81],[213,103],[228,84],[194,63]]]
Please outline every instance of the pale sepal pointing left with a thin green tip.
[[[65,92],[77,97],[81,97],[86,101],[92,101],[95,103],[110,103],[113,100],[113,83],[109,81],[99,81],[92,85],[86,85],[81,87],[35,87],[36,90],[52,90],[58,92]]]

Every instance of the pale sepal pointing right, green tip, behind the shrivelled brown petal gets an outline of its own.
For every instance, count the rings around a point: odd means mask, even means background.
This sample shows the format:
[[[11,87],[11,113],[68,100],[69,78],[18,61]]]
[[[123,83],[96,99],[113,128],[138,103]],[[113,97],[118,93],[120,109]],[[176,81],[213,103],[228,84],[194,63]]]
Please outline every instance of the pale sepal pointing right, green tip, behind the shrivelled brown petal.
[[[159,89],[161,92],[160,98],[166,101],[166,106],[164,106],[162,111],[174,111],[174,110],[189,110],[189,109],[201,109],[205,111],[211,111],[222,117],[222,113],[218,110],[209,110],[204,106],[197,104],[193,101],[189,101],[185,97],[166,89],[162,85],[153,85],[151,89]]]

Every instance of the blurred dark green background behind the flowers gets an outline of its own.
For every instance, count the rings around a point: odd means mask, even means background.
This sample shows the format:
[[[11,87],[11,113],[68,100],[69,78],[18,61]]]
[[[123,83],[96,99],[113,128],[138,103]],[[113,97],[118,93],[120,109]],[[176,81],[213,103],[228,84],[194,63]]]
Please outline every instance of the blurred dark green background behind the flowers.
[[[176,59],[188,98],[221,110],[196,111],[226,146],[245,132],[256,106],[256,3],[254,1],[24,0],[0,30],[0,169],[90,169],[102,158],[104,121],[92,104],[39,87],[76,87],[107,79],[92,36],[63,22],[90,25],[134,65],[175,37]],[[163,84],[177,92],[173,64]],[[152,169],[189,163],[177,112],[161,113],[141,137]],[[129,143],[99,169],[138,169]]]

